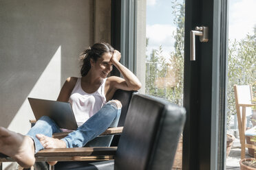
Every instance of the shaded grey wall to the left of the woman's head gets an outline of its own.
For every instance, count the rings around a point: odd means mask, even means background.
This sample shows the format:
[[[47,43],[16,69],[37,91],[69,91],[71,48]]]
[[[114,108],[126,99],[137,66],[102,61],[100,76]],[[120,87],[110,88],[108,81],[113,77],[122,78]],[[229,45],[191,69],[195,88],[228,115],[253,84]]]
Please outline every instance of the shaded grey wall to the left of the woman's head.
[[[34,88],[32,95],[40,98],[56,84],[60,88],[67,77],[78,76],[78,55],[92,44],[91,3],[0,1],[1,126],[8,127],[19,110],[21,117],[28,117],[21,106],[36,84],[42,88]],[[58,93],[47,99],[54,99]]]

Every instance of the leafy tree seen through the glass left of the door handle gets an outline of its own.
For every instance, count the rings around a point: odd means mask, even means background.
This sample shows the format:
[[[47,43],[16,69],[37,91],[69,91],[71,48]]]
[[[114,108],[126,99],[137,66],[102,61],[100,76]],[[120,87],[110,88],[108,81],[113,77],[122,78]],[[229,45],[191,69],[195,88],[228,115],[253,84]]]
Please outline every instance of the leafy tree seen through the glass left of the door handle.
[[[162,56],[162,45],[153,49],[147,56],[146,93],[168,99],[172,103],[183,104],[183,72],[184,72],[184,0],[172,2],[173,23],[176,31],[175,51],[170,52],[167,60]],[[149,40],[147,38],[147,40]]]

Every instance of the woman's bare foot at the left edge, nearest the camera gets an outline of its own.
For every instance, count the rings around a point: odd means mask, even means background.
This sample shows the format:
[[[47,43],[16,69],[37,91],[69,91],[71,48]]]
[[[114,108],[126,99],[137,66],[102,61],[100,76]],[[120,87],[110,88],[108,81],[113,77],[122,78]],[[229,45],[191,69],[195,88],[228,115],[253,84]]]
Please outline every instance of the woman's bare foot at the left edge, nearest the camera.
[[[16,160],[21,167],[34,165],[34,141],[28,136],[0,127],[0,152]]]

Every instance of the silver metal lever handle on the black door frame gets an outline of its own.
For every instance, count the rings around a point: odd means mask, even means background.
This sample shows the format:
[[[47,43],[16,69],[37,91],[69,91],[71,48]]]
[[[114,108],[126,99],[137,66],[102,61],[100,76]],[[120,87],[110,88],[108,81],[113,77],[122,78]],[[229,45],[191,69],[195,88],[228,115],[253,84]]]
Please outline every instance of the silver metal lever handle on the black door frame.
[[[195,36],[200,37],[200,42],[207,42],[208,27],[195,27],[195,30],[190,31],[190,60],[195,60]]]

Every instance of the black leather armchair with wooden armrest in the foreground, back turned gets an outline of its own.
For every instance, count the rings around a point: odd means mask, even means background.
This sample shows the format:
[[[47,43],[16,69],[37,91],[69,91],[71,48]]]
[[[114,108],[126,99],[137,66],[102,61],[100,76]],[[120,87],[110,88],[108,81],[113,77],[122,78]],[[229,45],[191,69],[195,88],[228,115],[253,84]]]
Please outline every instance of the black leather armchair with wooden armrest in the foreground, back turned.
[[[167,101],[135,94],[125,119],[118,147],[43,149],[36,161],[86,160],[56,169],[171,169],[185,121],[185,110]],[[114,160],[113,160],[114,158]],[[91,160],[107,160],[88,162]],[[0,162],[13,161],[1,157]]]

